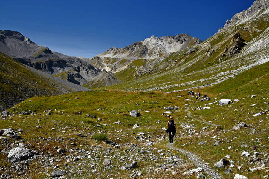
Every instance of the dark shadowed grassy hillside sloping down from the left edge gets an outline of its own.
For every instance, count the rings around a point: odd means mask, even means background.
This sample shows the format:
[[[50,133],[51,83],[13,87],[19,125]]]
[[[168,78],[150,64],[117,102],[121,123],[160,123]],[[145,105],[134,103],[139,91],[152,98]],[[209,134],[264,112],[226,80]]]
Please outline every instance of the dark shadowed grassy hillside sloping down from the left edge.
[[[38,75],[0,52],[0,110],[37,95],[60,95],[75,90]]]

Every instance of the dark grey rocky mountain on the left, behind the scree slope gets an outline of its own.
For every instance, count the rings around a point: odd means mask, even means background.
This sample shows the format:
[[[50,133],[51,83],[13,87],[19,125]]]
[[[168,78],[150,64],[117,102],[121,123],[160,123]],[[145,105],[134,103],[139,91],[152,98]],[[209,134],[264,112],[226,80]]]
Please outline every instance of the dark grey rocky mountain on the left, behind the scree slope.
[[[21,33],[11,30],[0,30],[0,51],[29,67],[79,85],[101,73],[84,59],[52,52],[48,47],[37,45]]]

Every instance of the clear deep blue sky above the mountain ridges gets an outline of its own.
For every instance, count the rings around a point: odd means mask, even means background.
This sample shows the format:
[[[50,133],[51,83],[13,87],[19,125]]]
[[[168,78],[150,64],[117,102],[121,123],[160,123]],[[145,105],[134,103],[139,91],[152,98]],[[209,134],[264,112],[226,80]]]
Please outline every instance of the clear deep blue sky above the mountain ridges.
[[[202,41],[254,0],[3,0],[0,29],[39,45],[91,58],[154,35],[186,33]]]

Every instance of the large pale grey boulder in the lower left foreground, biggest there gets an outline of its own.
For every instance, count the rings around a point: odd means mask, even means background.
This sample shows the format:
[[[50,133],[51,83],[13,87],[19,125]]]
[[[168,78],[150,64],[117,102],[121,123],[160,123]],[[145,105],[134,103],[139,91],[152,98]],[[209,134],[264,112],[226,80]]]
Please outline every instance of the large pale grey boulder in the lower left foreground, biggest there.
[[[32,157],[34,154],[32,153],[31,149],[27,149],[24,147],[16,147],[10,150],[8,154],[8,161],[9,162],[20,162],[23,160]]]

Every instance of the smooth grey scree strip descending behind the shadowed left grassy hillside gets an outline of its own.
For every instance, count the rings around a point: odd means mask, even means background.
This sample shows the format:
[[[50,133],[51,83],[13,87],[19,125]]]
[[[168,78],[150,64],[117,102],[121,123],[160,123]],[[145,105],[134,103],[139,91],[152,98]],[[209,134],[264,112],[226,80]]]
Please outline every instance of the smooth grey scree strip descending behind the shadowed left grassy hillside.
[[[54,80],[54,81],[56,81],[56,82],[58,82],[58,83],[61,83],[61,84],[65,85],[65,86],[68,86],[68,87],[70,87],[70,88],[73,88],[74,90],[77,90],[77,91],[92,91],[91,89],[82,87],[82,86],[80,86],[80,85],[71,83],[71,82],[69,82],[69,81],[62,80],[62,79],[57,78],[57,77],[55,77],[55,76],[52,76],[52,75],[50,75],[50,74],[47,74],[47,73],[44,73],[44,72],[42,72],[42,71],[36,70],[36,69],[34,69],[34,68],[32,68],[32,67],[29,67],[29,66],[27,66],[27,65],[25,65],[25,64],[22,64],[22,65],[24,65],[25,67],[29,68],[30,70],[32,70],[32,71],[38,73],[39,75],[45,76],[45,77],[47,77],[47,78],[51,78],[52,80]]]

